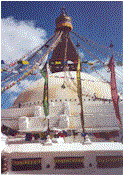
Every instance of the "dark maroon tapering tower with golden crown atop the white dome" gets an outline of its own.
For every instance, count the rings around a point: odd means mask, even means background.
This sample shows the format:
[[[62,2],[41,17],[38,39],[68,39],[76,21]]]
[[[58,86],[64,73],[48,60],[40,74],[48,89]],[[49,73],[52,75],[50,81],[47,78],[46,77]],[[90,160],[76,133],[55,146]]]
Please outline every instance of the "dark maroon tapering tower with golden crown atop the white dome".
[[[71,17],[66,14],[65,8],[62,8],[60,16],[56,19],[55,33],[63,31],[63,35],[49,60],[52,73],[64,71],[66,66],[69,71],[77,70],[78,54],[69,36],[72,29]]]

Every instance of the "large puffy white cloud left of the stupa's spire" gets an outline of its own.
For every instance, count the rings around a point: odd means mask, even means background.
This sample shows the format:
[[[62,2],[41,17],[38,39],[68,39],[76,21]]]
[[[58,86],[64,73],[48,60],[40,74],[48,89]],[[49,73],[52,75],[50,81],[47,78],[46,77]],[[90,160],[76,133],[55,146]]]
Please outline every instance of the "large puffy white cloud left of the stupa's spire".
[[[7,63],[20,59],[45,40],[46,31],[36,28],[34,21],[1,19],[1,58]]]

